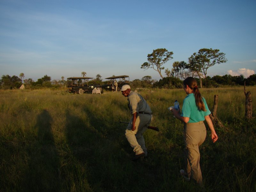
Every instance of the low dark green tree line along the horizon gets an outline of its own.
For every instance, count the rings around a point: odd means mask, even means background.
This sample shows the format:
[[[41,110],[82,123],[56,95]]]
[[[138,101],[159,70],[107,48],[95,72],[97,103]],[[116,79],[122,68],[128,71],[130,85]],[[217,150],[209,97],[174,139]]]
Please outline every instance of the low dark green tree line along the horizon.
[[[195,77],[196,78],[196,77]],[[197,83],[200,84],[200,79],[196,78]],[[249,76],[248,78],[244,78],[243,75],[240,76],[207,76],[205,79],[202,79],[202,83],[206,88],[212,87],[224,87],[224,86],[238,86],[244,85],[244,81],[246,85],[256,85],[256,74]],[[24,79],[23,84],[26,89],[40,89],[40,88],[61,88],[67,87],[67,84],[71,83],[69,80],[64,80],[64,77],[61,77],[61,80],[51,80],[50,76],[43,76],[37,81],[33,81],[31,78]],[[100,74],[93,78],[90,81],[87,81],[88,85],[105,85],[111,84],[110,81],[102,81]],[[130,84],[133,88],[141,87],[141,88],[164,88],[164,89],[177,89],[183,87],[183,80],[179,77],[175,76],[167,76],[163,77],[159,81],[152,80],[151,76],[144,76],[142,79],[134,79],[130,81]],[[9,76],[3,75],[0,80],[0,88],[1,89],[19,89],[22,85],[22,80],[18,76]]]

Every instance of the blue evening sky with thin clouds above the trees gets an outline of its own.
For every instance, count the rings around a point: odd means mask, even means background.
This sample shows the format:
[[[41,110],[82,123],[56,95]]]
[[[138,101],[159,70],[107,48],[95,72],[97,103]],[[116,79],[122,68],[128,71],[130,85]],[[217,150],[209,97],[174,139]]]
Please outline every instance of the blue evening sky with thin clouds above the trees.
[[[207,75],[256,72],[256,1],[237,0],[1,0],[0,76],[25,79],[81,76],[151,76],[141,69],[154,49],[188,61],[201,48],[228,61]],[[163,76],[164,70],[162,71]]]

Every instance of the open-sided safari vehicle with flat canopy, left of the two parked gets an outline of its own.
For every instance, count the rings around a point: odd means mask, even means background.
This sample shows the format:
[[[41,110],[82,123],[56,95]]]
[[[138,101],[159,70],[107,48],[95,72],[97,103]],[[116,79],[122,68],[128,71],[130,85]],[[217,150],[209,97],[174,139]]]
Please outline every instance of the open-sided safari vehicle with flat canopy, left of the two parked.
[[[92,77],[68,77],[67,80],[70,80],[68,83],[67,92],[70,93],[99,93],[101,94],[102,88],[100,86],[88,85],[88,80]]]

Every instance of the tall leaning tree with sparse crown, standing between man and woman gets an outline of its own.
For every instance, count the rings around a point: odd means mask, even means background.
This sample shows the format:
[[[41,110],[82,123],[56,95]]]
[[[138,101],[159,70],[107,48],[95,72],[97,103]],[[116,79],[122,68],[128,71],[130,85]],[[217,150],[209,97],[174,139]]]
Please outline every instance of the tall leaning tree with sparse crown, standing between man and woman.
[[[161,70],[164,69],[164,67],[161,67],[164,63],[166,63],[168,60],[172,59],[173,52],[168,52],[167,49],[156,49],[153,50],[151,54],[148,54],[148,62],[145,62],[141,65],[140,68],[142,69],[148,69],[153,68],[155,71],[159,73],[159,75],[164,78],[161,74]]]

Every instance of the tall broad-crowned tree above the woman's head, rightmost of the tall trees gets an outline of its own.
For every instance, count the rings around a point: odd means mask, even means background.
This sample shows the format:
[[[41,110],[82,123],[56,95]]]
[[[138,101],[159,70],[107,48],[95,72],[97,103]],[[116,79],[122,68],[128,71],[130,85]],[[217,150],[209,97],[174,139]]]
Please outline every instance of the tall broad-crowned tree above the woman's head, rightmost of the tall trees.
[[[197,53],[193,53],[189,60],[189,68],[197,72],[199,78],[200,72],[204,73],[204,79],[206,79],[207,69],[215,64],[225,63],[225,53],[219,52],[219,49],[200,49]],[[206,81],[205,81],[206,85]],[[202,87],[202,86],[201,86]]]

